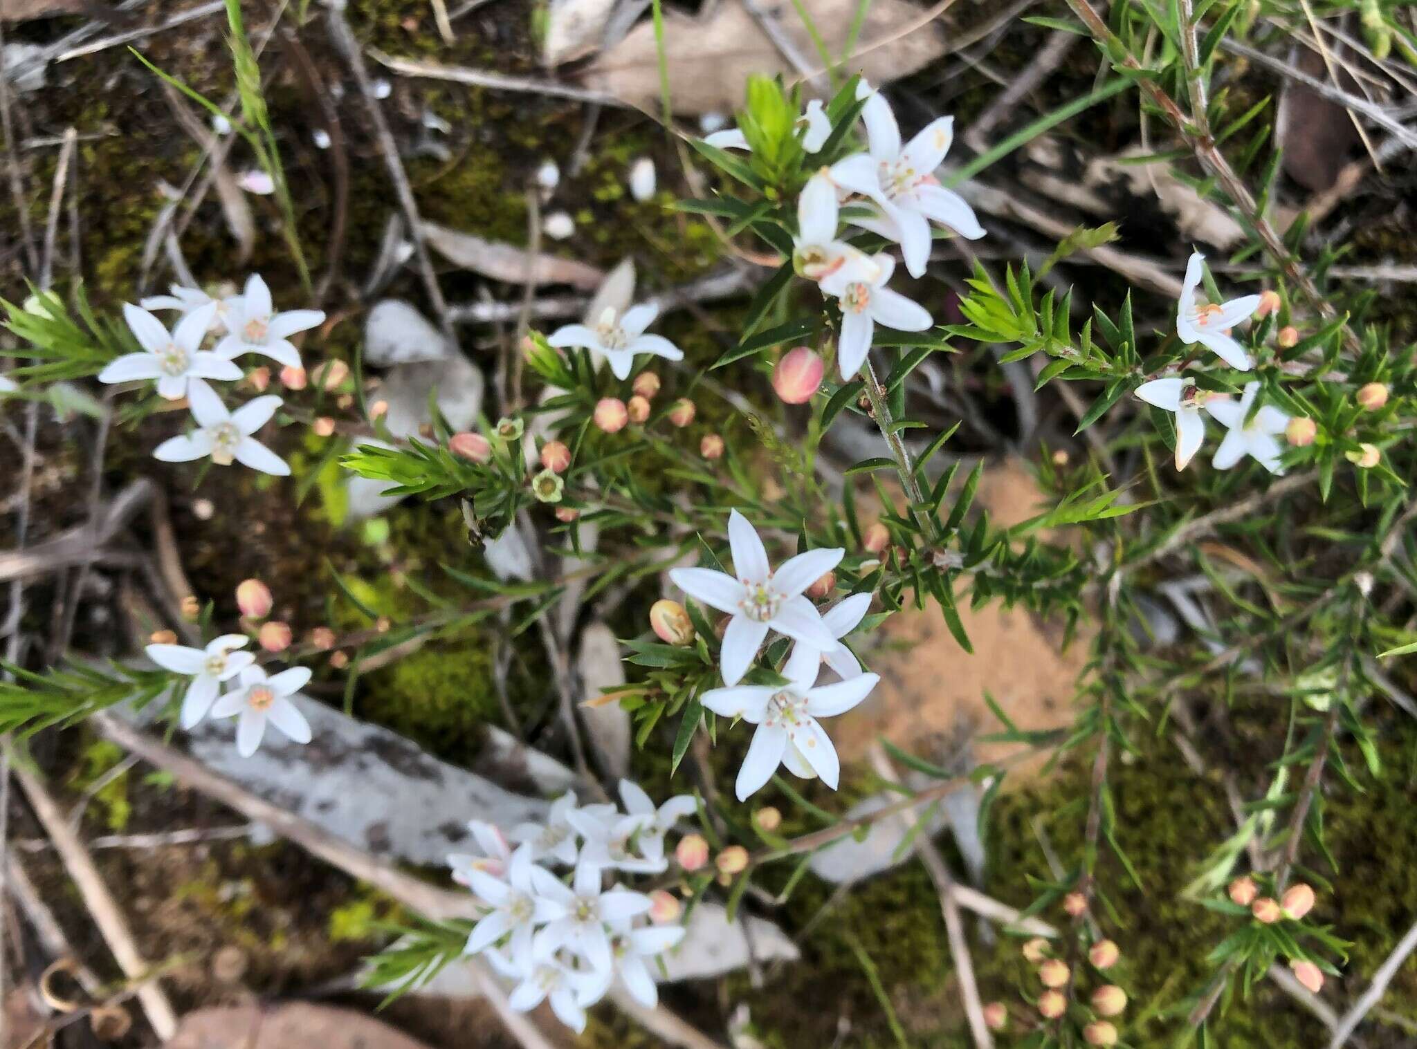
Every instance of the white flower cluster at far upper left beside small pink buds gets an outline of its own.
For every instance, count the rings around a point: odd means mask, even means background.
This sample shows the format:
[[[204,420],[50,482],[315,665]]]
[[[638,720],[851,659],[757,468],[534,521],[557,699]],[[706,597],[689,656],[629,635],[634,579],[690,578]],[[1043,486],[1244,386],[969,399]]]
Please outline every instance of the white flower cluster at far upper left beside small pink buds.
[[[177,310],[181,316],[169,330],[152,310]],[[322,324],[320,310],[276,313],[271,289],[259,275],[252,275],[241,294],[225,299],[174,285],[171,294],[143,299],[140,306],[125,304],[123,319],[142,350],[109,362],[99,372],[99,382],[153,381],[159,396],[186,398],[197,423],[191,433],[159,445],[153,450],[156,459],[167,463],[211,459],[218,466],[238,462],[281,477],[290,473],[283,459],[252,436],[275,415],[281,398],[258,396],[232,412],[208,379],[239,379],[242,372],[235,358],[245,354],[299,369],[300,354],[290,336]]]

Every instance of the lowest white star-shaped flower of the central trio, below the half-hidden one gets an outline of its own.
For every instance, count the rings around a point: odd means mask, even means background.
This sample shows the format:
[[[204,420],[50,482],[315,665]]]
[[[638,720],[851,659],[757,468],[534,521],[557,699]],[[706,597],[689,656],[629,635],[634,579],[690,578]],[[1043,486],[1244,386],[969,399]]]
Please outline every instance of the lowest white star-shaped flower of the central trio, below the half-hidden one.
[[[724,718],[741,718],[758,728],[738,769],[735,791],[745,801],[772,779],[779,764],[802,779],[820,776],[832,790],[840,779],[840,760],[818,718],[845,713],[864,699],[880,677],[859,674],[816,688],[822,657],[809,646],[796,646],[782,668],[785,685],[714,688],[700,702]]]

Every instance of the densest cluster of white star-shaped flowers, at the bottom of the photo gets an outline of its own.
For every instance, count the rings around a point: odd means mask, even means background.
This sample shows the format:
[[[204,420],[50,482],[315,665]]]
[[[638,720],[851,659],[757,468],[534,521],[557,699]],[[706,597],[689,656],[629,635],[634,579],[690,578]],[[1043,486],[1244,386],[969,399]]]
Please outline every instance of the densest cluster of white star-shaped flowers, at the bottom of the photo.
[[[680,794],[655,806],[635,783],[621,780],[623,811],[609,803],[558,798],[546,824],[519,824],[506,834],[472,821],[482,855],[448,858],[453,879],[468,886],[485,915],[472,927],[466,954],[485,957],[516,982],[514,1009],[548,1001],[570,1028],[585,1028],[585,1009],[619,981],[638,1002],[659,1001],[653,960],[684,936],[679,902],[619,885],[605,888],[611,871],[659,873],[669,868],[665,837],[696,811]],[[570,879],[555,868],[570,868]],[[662,898],[662,899],[659,899]]]

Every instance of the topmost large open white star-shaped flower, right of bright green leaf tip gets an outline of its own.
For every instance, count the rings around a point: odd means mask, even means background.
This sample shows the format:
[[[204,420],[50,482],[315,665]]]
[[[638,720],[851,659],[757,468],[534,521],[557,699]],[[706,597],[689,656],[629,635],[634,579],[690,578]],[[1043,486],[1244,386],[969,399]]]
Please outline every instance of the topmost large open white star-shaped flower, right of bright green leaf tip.
[[[910,275],[924,276],[931,222],[971,241],[985,235],[965,198],[935,178],[935,168],[944,163],[954,142],[955,119],[941,116],[901,146],[900,125],[884,96],[866,81],[857,84],[856,96],[866,99],[862,120],[869,151],[833,164],[832,180],[876,204],[876,215],[847,221],[896,241]]]

